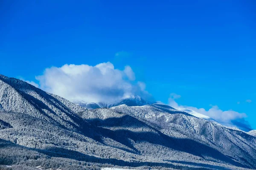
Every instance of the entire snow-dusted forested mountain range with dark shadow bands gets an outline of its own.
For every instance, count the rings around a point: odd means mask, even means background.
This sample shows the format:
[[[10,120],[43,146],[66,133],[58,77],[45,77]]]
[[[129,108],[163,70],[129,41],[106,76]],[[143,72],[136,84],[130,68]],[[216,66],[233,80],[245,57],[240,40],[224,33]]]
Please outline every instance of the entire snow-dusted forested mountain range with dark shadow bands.
[[[256,168],[256,137],[250,134],[166,105],[122,103],[88,110],[0,75],[0,164]]]

